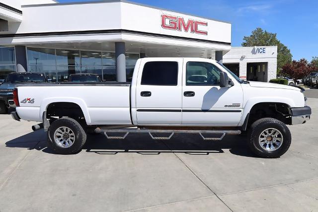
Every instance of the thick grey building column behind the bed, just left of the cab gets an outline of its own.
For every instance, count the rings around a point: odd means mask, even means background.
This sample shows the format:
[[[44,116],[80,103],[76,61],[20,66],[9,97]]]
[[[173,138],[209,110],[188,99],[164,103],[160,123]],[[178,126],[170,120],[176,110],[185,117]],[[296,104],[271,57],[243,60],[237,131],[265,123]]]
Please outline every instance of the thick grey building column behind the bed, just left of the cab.
[[[116,79],[126,82],[126,48],[124,42],[115,42]]]

